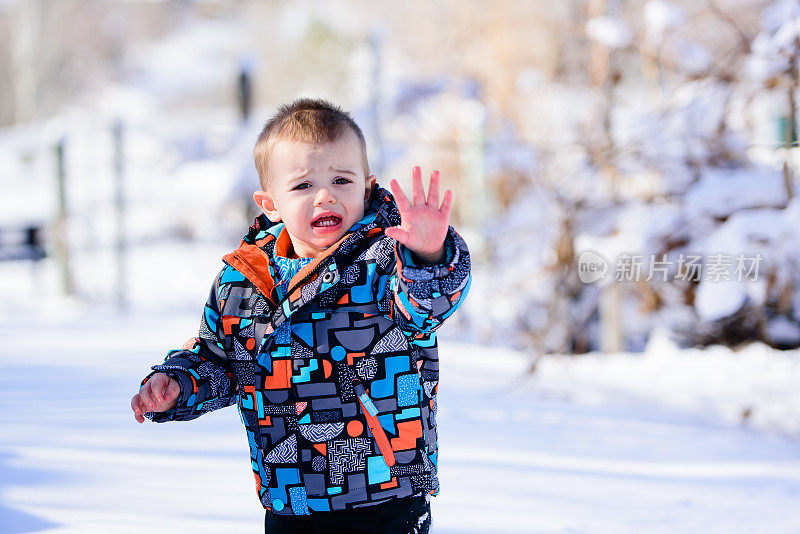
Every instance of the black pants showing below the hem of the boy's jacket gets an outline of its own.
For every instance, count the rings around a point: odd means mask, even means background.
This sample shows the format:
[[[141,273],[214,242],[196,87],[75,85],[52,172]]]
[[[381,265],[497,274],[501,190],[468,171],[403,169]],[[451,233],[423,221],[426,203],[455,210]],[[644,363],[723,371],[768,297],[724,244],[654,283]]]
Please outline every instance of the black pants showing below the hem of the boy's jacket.
[[[266,534],[428,534],[431,505],[425,496],[392,499],[353,510],[278,515],[267,510]]]

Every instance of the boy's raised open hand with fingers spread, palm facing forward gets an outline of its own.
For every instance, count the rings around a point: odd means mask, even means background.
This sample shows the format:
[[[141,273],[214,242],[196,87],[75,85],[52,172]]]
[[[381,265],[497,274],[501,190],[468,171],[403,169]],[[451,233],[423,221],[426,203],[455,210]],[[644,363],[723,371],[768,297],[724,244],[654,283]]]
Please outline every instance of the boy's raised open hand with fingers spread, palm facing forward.
[[[411,188],[414,203],[408,201],[397,180],[389,185],[400,210],[400,226],[390,226],[386,235],[396,239],[423,261],[438,263],[444,259],[444,238],[450,221],[450,207],[453,193],[448,189],[439,206],[439,171],[431,174],[428,197],[422,187],[422,173],[419,167],[412,171]]]

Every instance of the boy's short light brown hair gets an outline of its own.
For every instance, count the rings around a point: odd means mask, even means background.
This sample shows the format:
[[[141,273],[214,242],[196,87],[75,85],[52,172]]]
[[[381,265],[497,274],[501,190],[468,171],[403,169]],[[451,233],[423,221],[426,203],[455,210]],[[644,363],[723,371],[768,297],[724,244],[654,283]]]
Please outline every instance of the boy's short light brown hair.
[[[269,185],[269,157],[275,143],[331,143],[341,139],[348,130],[356,134],[361,145],[361,166],[366,179],[369,176],[367,142],[349,113],[330,102],[313,98],[300,98],[279,107],[264,125],[253,149],[262,189],[266,191]]]

